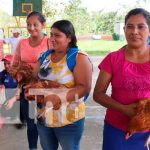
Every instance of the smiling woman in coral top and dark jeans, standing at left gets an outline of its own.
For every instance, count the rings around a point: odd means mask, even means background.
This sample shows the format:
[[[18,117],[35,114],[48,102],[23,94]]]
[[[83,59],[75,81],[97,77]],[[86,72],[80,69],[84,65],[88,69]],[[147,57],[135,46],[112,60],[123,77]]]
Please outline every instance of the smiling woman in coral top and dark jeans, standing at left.
[[[47,50],[48,38],[42,34],[42,29],[45,27],[45,18],[39,12],[31,12],[27,16],[27,30],[30,37],[22,39],[16,49],[13,64],[17,65],[19,61],[24,61],[35,68],[35,64],[40,56],[40,53]],[[28,115],[28,101],[24,98],[24,92],[20,95],[21,111],[27,121],[27,136],[29,149],[37,149],[38,131],[34,119],[30,119]]]

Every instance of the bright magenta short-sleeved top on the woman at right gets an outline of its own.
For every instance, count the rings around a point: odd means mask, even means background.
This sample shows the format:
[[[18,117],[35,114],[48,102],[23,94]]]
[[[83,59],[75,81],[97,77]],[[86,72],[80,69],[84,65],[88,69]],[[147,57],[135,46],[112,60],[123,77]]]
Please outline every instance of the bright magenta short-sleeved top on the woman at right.
[[[125,59],[125,49],[108,54],[100,63],[112,75],[111,97],[126,105],[150,97],[150,61],[134,63]],[[116,128],[126,131],[129,118],[123,113],[107,109],[105,119]]]

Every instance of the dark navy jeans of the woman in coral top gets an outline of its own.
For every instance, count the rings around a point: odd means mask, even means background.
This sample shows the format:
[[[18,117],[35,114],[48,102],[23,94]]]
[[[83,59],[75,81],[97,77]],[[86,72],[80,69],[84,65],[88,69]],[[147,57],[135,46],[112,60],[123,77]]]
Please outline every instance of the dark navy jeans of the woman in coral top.
[[[29,118],[29,102],[25,100],[23,93],[20,96],[20,111],[23,115],[23,118],[27,122],[27,138],[29,149],[36,149],[38,141],[38,131],[34,119]]]

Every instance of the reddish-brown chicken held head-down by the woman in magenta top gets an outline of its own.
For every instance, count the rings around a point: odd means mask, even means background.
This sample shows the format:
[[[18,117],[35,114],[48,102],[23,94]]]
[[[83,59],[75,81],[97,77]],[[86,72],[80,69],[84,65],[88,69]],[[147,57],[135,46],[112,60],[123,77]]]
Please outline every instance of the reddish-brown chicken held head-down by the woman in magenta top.
[[[138,101],[136,114],[129,122],[125,138],[146,130],[150,130],[150,98]]]

